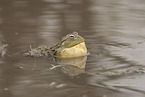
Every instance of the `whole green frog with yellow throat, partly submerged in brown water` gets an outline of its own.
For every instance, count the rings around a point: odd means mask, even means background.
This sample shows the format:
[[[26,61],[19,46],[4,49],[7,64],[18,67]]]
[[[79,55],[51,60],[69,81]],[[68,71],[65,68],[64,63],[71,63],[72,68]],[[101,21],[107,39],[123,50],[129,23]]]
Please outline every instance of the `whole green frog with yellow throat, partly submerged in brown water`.
[[[39,46],[28,52],[30,56],[79,57],[87,54],[84,38],[77,32],[66,35],[54,46]]]

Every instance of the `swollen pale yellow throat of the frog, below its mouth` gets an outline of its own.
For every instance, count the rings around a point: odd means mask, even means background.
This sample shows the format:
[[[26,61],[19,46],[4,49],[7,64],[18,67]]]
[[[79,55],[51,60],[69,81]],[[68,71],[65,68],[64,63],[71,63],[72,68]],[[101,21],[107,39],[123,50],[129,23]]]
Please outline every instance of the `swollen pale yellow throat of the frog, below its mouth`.
[[[79,43],[73,47],[65,48],[61,51],[57,57],[59,58],[71,58],[71,57],[79,57],[87,54],[87,48],[85,42]]]

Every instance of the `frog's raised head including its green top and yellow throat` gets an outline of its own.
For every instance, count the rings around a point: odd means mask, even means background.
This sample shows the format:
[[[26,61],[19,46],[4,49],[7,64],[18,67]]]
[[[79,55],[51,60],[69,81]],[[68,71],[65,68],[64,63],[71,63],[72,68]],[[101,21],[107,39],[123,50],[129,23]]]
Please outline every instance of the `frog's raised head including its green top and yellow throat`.
[[[55,56],[59,58],[78,57],[87,54],[84,38],[77,32],[68,34],[55,46]]]

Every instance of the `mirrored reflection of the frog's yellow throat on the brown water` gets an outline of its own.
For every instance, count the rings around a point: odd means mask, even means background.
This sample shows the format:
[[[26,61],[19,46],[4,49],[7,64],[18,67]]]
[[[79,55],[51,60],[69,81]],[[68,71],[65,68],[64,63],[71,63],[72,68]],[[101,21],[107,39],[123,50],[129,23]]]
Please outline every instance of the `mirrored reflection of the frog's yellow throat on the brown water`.
[[[76,76],[85,72],[87,56],[77,58],[59,59],[56,62],[61,65],[61,70],[69,76]]]

